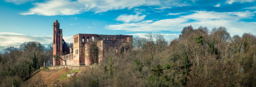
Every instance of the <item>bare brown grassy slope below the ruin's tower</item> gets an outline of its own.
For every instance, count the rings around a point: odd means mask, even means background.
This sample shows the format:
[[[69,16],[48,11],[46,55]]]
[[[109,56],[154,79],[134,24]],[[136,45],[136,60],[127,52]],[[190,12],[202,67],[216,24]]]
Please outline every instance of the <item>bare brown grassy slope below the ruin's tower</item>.
[[[77,70],[70,70],[68,68],[68,73],[66,72],[66,68],[58,68],[56,70],[43,68],[35,71],[26,83],[29,86],[63,86],[72,79],[72,77],[67,77],[67,74],[76,73],[76,75],[79,75],[85,68]]]

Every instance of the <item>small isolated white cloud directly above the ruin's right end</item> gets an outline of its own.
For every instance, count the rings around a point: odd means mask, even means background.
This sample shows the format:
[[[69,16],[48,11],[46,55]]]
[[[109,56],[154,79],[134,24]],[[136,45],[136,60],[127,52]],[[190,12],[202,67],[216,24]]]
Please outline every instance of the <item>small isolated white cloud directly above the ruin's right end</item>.
[[[123,21],[125,23],[128,23],[128,22],[138,22],[138,21],[144,20],[145,17],[146,17],[146,15],[139,16],[138,14],[136,14],[136,15],[133,15],[133,14],[130,14],[130,15],[122,14],[122,15],[119,15],[116,18],[116,20],[117,21]]]

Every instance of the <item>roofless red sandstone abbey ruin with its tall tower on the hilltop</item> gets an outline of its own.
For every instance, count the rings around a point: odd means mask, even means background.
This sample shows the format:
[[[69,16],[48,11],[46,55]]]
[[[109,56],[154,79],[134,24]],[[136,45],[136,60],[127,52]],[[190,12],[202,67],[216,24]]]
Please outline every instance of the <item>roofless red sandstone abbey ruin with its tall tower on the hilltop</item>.
[[[116,53],[125,52],[127,43],[132,44],[130,35],[96,35],[77,34],[73,36],[73,48],[69,47],[62,38],[59,22],[53,23],[53,55],[60,55],[61,59],[53,57],[53,66],[67,65],[81,66],[98,64],[103,60],[104,52],[109,49]],[[63,54],[64,53],[64,54]],[[63,54],[63,55],[62,55]]]

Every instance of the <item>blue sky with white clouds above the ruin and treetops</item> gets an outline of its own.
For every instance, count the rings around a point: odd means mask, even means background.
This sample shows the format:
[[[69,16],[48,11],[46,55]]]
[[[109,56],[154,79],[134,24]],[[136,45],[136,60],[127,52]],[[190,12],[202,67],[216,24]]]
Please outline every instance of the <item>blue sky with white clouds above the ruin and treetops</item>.
[[[2,0],[0,49],[25,41],[52,41],[58,20],[63,39],[73,35],[163,34],[178,37],[183,27],[225,26],[233,35],[256,34],[256,0]]]

